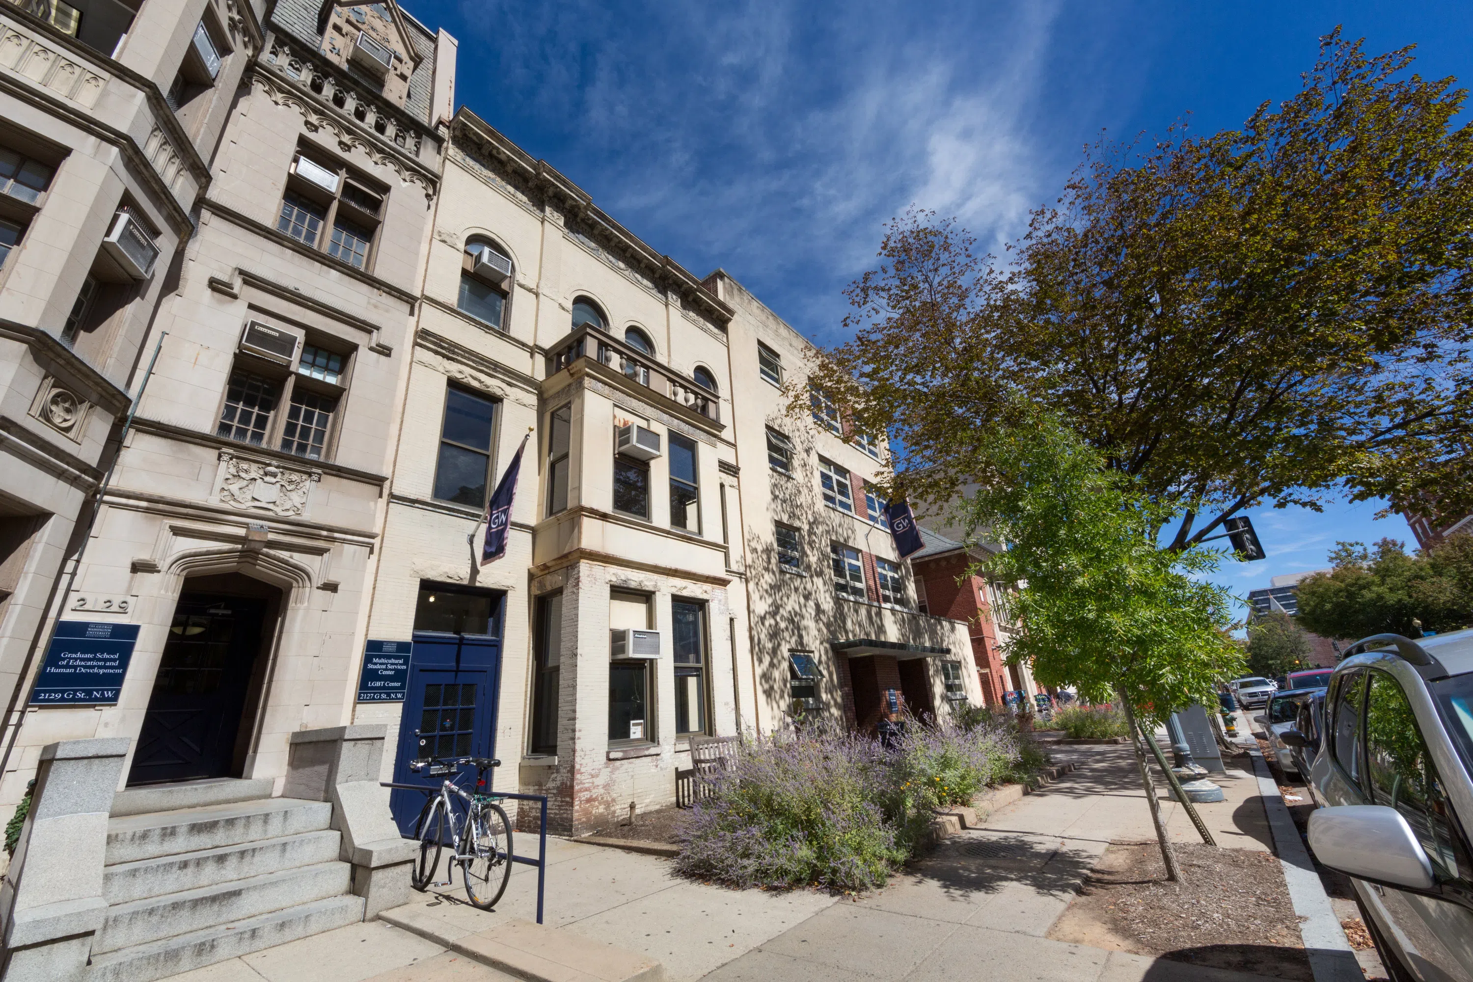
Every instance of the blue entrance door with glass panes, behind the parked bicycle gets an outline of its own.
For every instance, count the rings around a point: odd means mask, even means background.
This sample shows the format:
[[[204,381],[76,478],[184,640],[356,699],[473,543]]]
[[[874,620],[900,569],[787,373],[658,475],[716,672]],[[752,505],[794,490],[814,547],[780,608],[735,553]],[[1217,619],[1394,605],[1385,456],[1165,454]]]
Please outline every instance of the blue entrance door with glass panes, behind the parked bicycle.
[[[414,632],[409,686],[399,718],[395,783],[437,788],[445,780],[409,770],[409,763],[415,760],[495,757],[499,690],[499,637]],[[468,770],[474,782],[474,769]],[[389,804],[399,832],[414,835],[424,795],[396,788]]]

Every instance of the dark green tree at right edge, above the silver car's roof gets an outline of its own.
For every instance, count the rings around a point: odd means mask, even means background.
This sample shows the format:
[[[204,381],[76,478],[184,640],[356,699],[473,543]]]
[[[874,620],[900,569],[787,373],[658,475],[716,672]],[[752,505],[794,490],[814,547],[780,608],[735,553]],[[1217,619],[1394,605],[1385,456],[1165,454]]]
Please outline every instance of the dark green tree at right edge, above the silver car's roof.
[[[1423,555],[1382,539],[1374,549],[1340,542],[1333,568],[1299,582],[1299,623],[1326,637],[1416,637],[1473,624],[1473,536],[1452,536]],[[1414,623],[1417,621],[1417,623]]]

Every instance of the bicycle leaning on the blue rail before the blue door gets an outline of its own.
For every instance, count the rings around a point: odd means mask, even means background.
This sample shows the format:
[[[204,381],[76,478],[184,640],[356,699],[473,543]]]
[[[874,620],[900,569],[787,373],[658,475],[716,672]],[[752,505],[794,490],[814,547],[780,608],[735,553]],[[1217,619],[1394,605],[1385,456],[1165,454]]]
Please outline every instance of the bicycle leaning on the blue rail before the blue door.
[[[474,794],[468,794],[457,783],[460,767],[464,764],[476,769]],[[511,822],[493,796],[480,791],[486,786],[486,771],[499,766],[501,761],[491,757],[455,760],[430,757],[409,761],[409,770],[429,769],[432,777],[455,774],[445,777],[439,794],[430,795],[414,824],[414,838],[420,841],[420,858],[409,873],[414,889],[424,892],[432,885],[440,867],[440,854],[449,845],[452,855],[445,869],[446,879],[435,885],[449,886],[451,864],[458,864],[465,895],[473,905],[491,910],[501,900],[507,891],[507,880],[511,879]],[[464,816],[457,813],[452,792],[464,802]]]

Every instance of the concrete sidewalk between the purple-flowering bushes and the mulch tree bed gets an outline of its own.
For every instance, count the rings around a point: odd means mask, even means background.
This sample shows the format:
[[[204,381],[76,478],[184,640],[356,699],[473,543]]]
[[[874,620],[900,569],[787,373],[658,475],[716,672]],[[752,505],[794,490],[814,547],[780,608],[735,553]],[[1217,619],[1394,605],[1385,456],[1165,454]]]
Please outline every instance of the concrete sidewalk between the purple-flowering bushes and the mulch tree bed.
[[[713,982],[999,978],[1028,982],[1251,982],[1261,976],[1046,938],[1111,841],[1153,841],[1130,746],[1059,746],[1078,770],[943,841],[885,889],[843,901],[716,970]],[[1256,780],[1199,805],[1223,845],[1267,849]],[[1174,839],[1200,841],[1175,802]]]

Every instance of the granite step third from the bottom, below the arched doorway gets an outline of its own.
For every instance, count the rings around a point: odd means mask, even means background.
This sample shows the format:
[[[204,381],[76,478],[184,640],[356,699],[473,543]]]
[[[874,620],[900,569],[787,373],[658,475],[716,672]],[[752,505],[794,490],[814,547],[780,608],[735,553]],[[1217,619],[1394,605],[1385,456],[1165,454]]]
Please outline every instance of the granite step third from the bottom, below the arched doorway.
[[[296,866],[330,863],[339,858],[340,848],[342,835],[324,829],[116,863],[103,869],[102,895],[109,904],[127,904]]]

